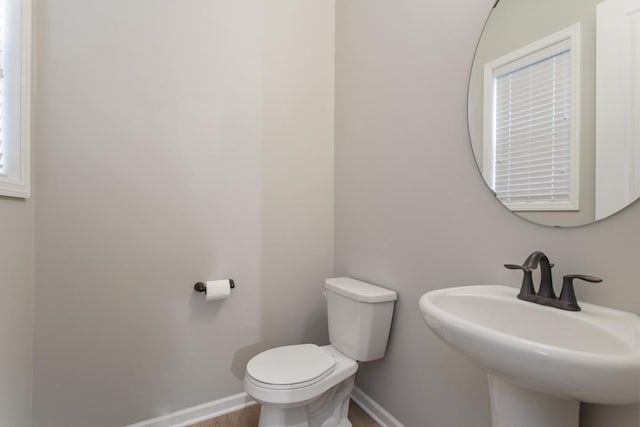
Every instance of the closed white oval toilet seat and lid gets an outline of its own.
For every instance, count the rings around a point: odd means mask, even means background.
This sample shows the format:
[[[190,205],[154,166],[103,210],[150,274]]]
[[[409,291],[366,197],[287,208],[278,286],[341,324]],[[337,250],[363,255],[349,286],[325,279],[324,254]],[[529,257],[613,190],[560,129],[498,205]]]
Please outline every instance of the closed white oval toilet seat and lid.
[[[315,344],[289,345],[255,356],[247,364],[247,374],[259,387],[290,390],[321,381],[335,365],[335,357]]]

